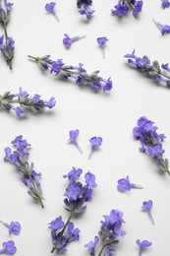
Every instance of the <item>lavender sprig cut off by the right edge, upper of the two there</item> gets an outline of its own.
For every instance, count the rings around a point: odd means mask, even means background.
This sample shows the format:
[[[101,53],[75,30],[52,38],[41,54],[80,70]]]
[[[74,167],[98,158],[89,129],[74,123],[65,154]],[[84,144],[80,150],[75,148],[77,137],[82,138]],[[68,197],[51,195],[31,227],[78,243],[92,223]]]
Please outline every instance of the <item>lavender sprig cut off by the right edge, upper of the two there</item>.
[[[169,64],[162,64],[161,67],[157,60],[152,63],[147,56],[138,57],[135,55],[135,50],[132,54],[124,55],[128,58],[128,62],[134,65],[138,70],[142,71],[143,74],[147,74],[154,78],[157,82],[163,82],[168,88],[170,88],[170,67]]]

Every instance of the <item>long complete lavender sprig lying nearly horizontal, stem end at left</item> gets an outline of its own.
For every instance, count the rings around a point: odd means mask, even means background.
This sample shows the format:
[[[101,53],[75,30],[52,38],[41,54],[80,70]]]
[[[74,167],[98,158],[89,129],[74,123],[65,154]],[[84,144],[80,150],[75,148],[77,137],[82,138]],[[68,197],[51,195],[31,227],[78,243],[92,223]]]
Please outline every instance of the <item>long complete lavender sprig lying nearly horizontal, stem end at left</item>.
[[[49,58],[50,55],[44,55],[43,57],[32,57],[28,55],[28,57],[42,69],[49,69],[50,73],[55,73],[55,75],[60,75],[65,79],[74,79],[77,85],[90,86],[93,91],[103,90],[103,92],[106,92],[112,89],[112,81],[110,78],[107,80],[102,79],[98,76],[98,70],[88,75],[82,63],[80,63],[79,66],[66,65],[63,63],[62,59],[52,61]]]

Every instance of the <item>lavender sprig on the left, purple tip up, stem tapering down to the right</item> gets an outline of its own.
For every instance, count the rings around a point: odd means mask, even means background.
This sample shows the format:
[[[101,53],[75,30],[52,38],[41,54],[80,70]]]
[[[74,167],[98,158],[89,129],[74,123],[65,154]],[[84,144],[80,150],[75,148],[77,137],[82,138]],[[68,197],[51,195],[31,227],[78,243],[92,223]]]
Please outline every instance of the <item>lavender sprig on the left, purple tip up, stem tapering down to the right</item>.
[[[22,135],[17,136],[11,143],[16,148],[16,151],[12,152],[11,148],[5,148],[6,156],[4,160],[9,161],[17,167],[22,176],[23,183],[28,187],[28,195],[43,208],[42,190],[40,186],[41,173],[33,170],[32,162],[30,164],[28,163],[28,149],[30,144],[28,144],[27,140],[23,139]]]

